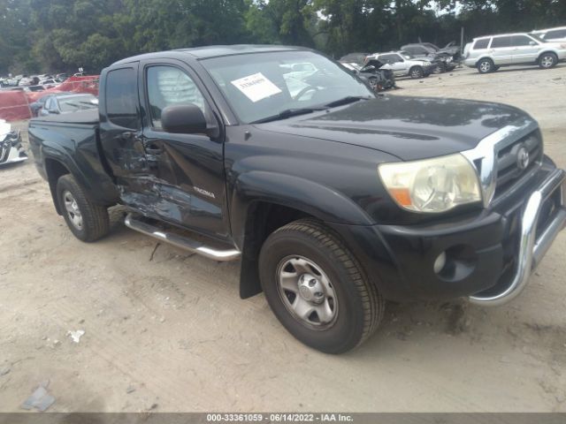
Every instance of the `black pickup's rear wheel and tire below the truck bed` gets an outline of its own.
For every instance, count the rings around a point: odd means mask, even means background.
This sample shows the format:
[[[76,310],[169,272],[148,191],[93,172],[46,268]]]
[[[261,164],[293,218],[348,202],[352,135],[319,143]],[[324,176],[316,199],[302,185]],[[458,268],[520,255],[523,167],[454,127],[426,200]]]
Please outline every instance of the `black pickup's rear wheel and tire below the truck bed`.
[[[108,234],[108,210],[90,201],[72,175],[58,179],[57,201],[69,230],[77,239],[91,242]]]

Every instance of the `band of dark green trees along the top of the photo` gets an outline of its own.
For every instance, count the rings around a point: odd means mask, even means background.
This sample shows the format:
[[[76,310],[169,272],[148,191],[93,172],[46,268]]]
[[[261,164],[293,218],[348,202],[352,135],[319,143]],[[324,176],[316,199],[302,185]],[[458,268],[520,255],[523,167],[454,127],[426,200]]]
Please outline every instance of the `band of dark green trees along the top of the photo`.
[[[0,11],[0,74],[99,72],[142,52],[239,42],[340,57],[458,41],[461,27],[470,39],[566,25],[564,0],[0,0]]]

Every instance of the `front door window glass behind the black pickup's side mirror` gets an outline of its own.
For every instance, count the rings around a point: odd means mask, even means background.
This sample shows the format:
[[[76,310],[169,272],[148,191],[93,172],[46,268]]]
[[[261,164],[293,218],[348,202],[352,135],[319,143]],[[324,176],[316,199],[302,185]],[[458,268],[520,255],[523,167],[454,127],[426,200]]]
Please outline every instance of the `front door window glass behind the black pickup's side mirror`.
[[[149,115],[151,125],[161,128],[161,111],[172,104],[194,103],[203,110],[204,97],[195,81],[174,66],[151,66],[147,73]]]

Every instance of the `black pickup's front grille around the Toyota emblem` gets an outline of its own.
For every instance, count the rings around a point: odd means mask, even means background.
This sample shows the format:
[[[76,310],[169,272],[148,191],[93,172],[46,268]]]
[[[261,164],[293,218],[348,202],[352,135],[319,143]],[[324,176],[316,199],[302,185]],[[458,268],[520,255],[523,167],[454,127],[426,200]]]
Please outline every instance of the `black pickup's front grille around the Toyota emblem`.
[[[528,152],[528,165],[522,167],[519,157]],[[496,154],[497,179],[495,182],[495,198],[507,192],[512,186],[535,168],[542,161],[543,147],[539,130],[527,134],[514,143],[501,148]],[[524,158],[524,155],[522,155]]]

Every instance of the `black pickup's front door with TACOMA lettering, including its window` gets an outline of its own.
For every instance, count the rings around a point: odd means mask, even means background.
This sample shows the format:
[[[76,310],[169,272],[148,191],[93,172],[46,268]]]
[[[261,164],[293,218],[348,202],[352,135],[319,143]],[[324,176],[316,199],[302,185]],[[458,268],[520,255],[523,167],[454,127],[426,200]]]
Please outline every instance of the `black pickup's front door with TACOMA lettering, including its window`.
[[[218,239],[228,239],[223,129],[202,81],[174,60],[142,63],[140,96],[145,109],[142,139],[156,181],[161,219]],[[161,111],[194,103],[216,134],[165,133]]]

